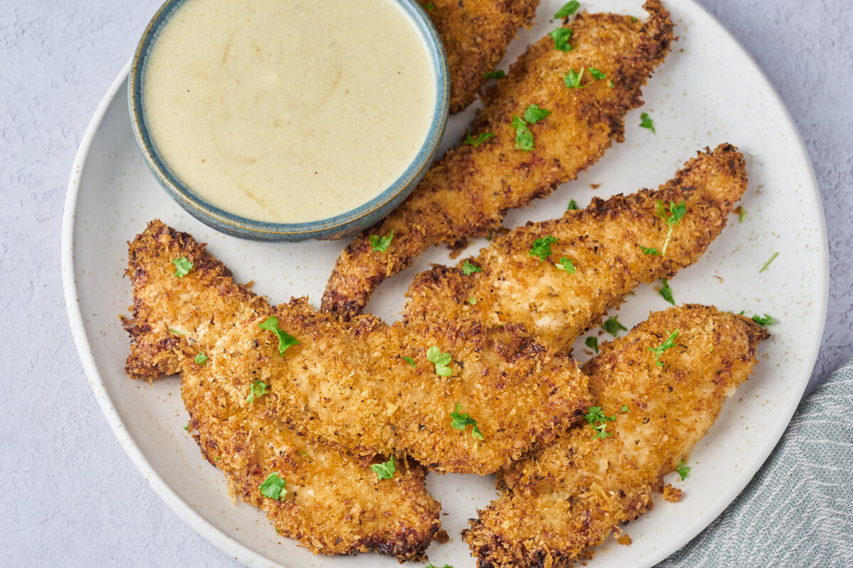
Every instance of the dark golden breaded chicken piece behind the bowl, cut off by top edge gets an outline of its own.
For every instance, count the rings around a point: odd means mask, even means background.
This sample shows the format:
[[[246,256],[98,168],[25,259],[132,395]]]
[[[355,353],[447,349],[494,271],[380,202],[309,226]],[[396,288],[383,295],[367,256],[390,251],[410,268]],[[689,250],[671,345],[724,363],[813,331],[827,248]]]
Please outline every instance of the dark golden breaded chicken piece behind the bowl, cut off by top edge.
[[[427,9],[447,54],[450,113],[470,105],[515,37],[531,25],[539,0],[432,0]],[[427,3],[421,2],[421,5]]]

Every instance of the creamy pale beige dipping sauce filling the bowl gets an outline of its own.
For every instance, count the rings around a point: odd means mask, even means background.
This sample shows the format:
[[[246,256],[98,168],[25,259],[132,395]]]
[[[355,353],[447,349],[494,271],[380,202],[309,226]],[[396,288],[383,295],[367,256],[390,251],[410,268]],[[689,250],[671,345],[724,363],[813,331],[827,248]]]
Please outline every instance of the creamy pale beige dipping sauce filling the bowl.
[[[427,44],[391,0],[187,0],[142,77],[154,148],[229,213],[317,221],[376,197],[427,139]]]

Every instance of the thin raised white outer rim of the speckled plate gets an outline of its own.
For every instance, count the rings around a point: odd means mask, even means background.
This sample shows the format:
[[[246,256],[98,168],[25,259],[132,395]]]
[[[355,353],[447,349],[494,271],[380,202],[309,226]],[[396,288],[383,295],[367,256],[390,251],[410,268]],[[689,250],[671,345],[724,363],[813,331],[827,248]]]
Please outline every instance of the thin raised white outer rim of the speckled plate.
[[[808,343],[808,356],[804,357],[804,363],[810,367],[811,371],[809,371],[808,376],[805,376],[800,380],[801,384],[799,386],[794,386],[795,393],[798,393],[799,395],[796,399],[797,403],[789,404],[782,412],[786,418],[784,422],[780,420],[776,422],[775,427],[770,428],[769,438],[774,439],[775,443],[773,445],[765,445],[763,448],[755,452],[758,456],[761,456],[761,467],[763,467],[764,462],[767,461],[769,455],[778,445],[782,435],[788,427],[788,424],[791,422],[794,412],[796,412],[800,402],[802,401],[803,393],[809,385],[809,378],[814,372],[815,363],[820,351],[823,332],[826,327],[830,283],[826,215],[823,209],[820,186],[817,183],[815,169],[811,163],[809,152],[805,147],[803,136],[800,134],[797,123],[794,122],[791,112],[788,110],[784,100],[782,100],[778,91],[775,89],[775,85],[769,80],[769,77],[763,71],[761,66],[757,64],[755,58],[752,57],[737,37],[734,37],[734,34],[729,32],[728,28],[717,19],[716,15],[712,14],[710,10],[706,9],[705,6],[697,2],[697,0],[688,0],[686,4],[692,4],[694,9],[698,8],[699,11],[708,18],[709,23],[712,26],[717,27],[717,32],[723,32],[724,36],[740,50],[740,54],[746,58],[748,64],[751,65],[751,67],[757,72],[758,76],[761,77],[763,82],[769,87],[769,92],[775,101],[775,106],[780,108],[786,117],[786,123],[780,126],[784,126],[786,129],[790,130],[793,135],[792,138],[797,142],[796,150],[799,153],[798,158],[801,159],[804,167],[808,169],[809,175],[807,175],[807,178],[810,181],[811,192],[815,196],[817,202],[818,215],[817,219],[815,219],[815,228],[818,229],[822,235],[822,239],[819,243],[821,247],[820,253],[822,268],[820,278],[822,281],[820,285],[814,286],[813,290],[820,294],[820,297],[815,297],[815,303],[817,303],[815,313],[821,316],[820,333],[816,333]],[[165,480],[154,471],[154,468],[151,467],[148,459],[142,454],[142,451],[139,450],[130,433],[128,433],[124,422],[122,422],[119,417],[118,411],[113,407],[112,400],[107,393],[103,378],[97,370],[95,356],[94,353],[92,353],[89,338],[86,336],[83,316],[79,309],[79,295],[77,290],[77,281],[75,278],[76,273],[73,240],[80,189],[79,181],[83,177],[86,160],[88,158],[92,142],[95,139],[95,135],[102,125],[107,108],[112,104],[119,89],[121,89],[124,83],[126,83],[131,69],[131,63],[132,55],[127,63],[125,63],[125,66],[123,66],[119,71],[118,76],[113,79],[113,83],[111,83],[110,87],[107,89],[106,94],[103,95],[101,102],[97,106],[96,111],[86,126],[84,135],[74,156],[71,175],[69,176],[67,185],[66,200],[63,207],[61,230],[62,291],[65,299],[68,322],[71,328],[74,344],[77,349],[78,358],[83,366],[85,376],[89,380],[92,393],[95,395],[95,399],[100,406],[104,417],[107,419],[107,424],[109,424],[109,427],[113,430],[113,434],[118,439],[119,445],[121,445],[122,450],[124,450],[125,454],[127,454],[131,459],[131,462],[136,466],[139,473],[142,473],[142,477],[148,482],[148,485],[150,485],[152,489],[154,489],[154,492],[160,496],[160,499],[165,502],[166,506],[169,507],[179,519],[182,519],[183,522],[189,525],[189,527],[196,533],[205,538],[208,542],[211,542],[213,546],[243,564],[287,568],[287,566],[281,565],[269,558],[266,558],[263,554],[253,551],[251,548],[248,548],[241,542],[236,541],[227,533],[212,525],[212,523],[202,517],[200,513],[194,511],[187,502],[183,501],[183,499],[165,483]],[[736,483],[730,485],[729,490],[723,493],[720,496],[721,498],[718,498],[712,506],[706,508],[705,513],[694,519],[693,523],[689,525],[688,529],[685,531],[685,534],[688,535],[685,542],[682,542],[675,548],[670,545],[656,547],[651,554],[648,554],[646,563],[643,563],[642,565],[656,565],[660,561],[668,558],[671,554],[675,554],[681,548],[688,546],[688,544],[692,542],[700,532],[710,526],[711,523],[713,523],[713,521],[737,499],[740,493],[746,488],[746,485],[749,485],[750,481],[751,478],[748,477],[746,473],[742,473],[740,475],[740,479],[737,479]]]

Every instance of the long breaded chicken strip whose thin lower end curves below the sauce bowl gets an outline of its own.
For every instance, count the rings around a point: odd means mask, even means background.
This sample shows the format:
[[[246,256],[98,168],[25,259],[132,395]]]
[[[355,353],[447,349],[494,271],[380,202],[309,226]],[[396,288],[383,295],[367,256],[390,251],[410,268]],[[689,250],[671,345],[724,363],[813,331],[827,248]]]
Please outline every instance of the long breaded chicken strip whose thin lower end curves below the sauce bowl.
[[[341,253],[322,299],[324,311],[349,318],[363,310],[381,282],[409,267],[441,242],[457,244],[501,226],[508,209],[548,195],[601,158],[613,140],[624,139],[624,116],[640,106],[641,86],[670,50],[672,22],[659,0],[648,0],[646,22],[615,14],[580,14],[568,53],[543,37],[497,83],[488,106],[471,128],[494,137],[477,147],[463,144],[432,166],[421,184],[391,215],[363,232]],[[595,67],[606,79],[583,75],[570,89],[564,74]],[[612,82],[612,88],[610,87]],[[551,114],[531,123],[535,148],[516,149],[514,117],[531,104]],[[386,252],[373,250],[371,235],[393,231]]]

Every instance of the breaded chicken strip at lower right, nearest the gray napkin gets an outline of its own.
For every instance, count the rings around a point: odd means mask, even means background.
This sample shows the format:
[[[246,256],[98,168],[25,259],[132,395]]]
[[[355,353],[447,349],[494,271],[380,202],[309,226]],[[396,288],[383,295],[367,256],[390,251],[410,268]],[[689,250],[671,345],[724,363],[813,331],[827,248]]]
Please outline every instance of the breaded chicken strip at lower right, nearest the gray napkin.
[[[658,366],[650,349],[675,330]],[[502,471],[502,496],[463,533],[480,568],[571,566],[652,508],[652,491],[677,500],[680,490],[664,488],[664,475],[746,381],[767,336],[742,316],[684,306],[653,313],[602,349],[583,370],[595,404],[615,419],[595,422],[606,438],[584,423]]]

